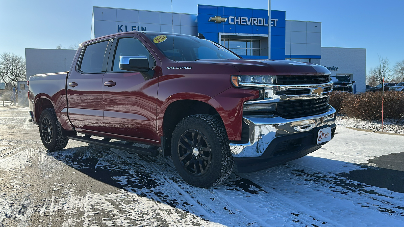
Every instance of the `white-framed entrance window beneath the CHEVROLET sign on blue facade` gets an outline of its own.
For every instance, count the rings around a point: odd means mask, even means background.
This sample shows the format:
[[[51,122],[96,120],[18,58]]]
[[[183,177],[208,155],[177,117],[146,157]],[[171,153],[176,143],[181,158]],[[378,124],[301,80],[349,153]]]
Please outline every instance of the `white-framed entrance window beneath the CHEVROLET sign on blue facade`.
[[[238,55],[261,55],[261,40],[254,36],[221,36],[221,45]]]

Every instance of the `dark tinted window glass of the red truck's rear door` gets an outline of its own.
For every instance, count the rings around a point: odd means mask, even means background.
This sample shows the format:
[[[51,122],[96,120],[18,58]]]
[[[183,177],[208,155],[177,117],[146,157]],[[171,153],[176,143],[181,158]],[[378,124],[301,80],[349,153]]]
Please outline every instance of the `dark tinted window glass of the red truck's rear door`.
[[[87,45],[80,64],[80,71],[84,73],[101,72],[107,46],[108,40]]]

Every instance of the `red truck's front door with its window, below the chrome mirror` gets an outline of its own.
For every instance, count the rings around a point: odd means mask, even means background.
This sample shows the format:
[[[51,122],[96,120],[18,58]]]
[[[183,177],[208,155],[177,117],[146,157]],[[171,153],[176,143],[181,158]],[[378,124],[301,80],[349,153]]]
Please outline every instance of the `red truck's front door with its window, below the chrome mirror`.
[[[119,38],[111,50],[111,71],[103,77],[104,122],[109,133],[158,140],[156,131],[158,78],[145,80],[139,72],[119,69],[121,56],[144,56],[149,67],[154,58],[138,38]],[[109,64],[108,64],[109,65]],[[112,85],[113,84],[113,85]]]

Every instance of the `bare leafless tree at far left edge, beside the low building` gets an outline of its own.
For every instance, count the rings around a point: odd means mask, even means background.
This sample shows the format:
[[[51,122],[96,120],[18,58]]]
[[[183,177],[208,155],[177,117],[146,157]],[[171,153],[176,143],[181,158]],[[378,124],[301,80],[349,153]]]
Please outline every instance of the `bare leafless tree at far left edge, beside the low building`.
[[[0,55],[0,77],[4,82],[11,82],[17,87],[18,81],[26,80],[26,74],[25,59],[21,55],[7,52]]]

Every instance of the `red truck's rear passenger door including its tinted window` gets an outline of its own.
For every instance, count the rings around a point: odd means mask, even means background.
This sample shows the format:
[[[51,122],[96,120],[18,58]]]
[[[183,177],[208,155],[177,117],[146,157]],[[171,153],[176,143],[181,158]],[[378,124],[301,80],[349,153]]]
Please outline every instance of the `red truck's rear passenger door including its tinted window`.
[[[86,44],[78,64],[69,72],[67,79],[68,113],[72,124],[78,131],[99,131],[105,127],[102,108],[102,79],[112,41],[112,39],[107,39]]]

